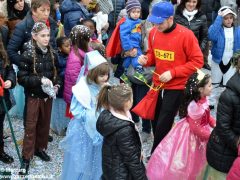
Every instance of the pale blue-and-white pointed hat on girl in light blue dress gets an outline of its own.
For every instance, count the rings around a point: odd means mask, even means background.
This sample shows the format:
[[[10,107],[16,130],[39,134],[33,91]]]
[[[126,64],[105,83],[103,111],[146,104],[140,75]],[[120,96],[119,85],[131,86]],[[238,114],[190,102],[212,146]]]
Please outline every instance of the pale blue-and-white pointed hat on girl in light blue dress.
[[[84,65],[88,70],[91,70],[105,62],[107,62],[107,60],[97,50],[90,51],[85,54]]]

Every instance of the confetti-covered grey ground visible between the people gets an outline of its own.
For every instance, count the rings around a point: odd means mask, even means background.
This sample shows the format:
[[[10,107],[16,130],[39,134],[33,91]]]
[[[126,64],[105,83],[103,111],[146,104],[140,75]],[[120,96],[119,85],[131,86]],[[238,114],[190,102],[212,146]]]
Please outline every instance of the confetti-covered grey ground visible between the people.
[[[205,73],[209,73],[209,71],[204,71]],[[116,83],[116,79],[113,79],[113,83]],[[221,90],[222,91],[222,90]],[[211,114],[215,117],[216,112],[215,110],[211,111]],[[178,118],[175,119],[176,121]],[[15,136],[17,142],[19,144],[20,153],[22,149],[22,139],[23,139],[23,120],[19,118],[11,118],[13,129],[15,131]],[[141,133],[141,124],[140,126],[140,135]],[[5,139],[5,151],[9,155],[14,157],[14,163],[12,164],[4,164],[0,161],[0,171],[3,169],[11,169],[12,175],[17,175],[20,163],[18,160],[17,152],[15,150],[15,145],[11,138],[10,128],[8,125],[8,121],[5,119],[5,128],[4,128],[4,135],[7,137]],[[38,157],[34,157],[30,164],[29,174],[31,175],[29,180],[31,179],[60,179],[61,169],[63,164],[63,152],[58,148],[59,142],[63,139],[63,136],[57,136],[56,134],[52,133],[53,142],[48,144],[47,153],[51,157],[50,162],[44,162]],[[143,143],[143,154],[144,154],[144,163],[147,163],[147,157],[150,155],[151,147],[153,143],[153,136],[151,135],[146,142]],[[13,177],[13,176],[12,176]],[[12,178],[16,179],[16,178]],[[19,179],[19,178],[18,178]]]

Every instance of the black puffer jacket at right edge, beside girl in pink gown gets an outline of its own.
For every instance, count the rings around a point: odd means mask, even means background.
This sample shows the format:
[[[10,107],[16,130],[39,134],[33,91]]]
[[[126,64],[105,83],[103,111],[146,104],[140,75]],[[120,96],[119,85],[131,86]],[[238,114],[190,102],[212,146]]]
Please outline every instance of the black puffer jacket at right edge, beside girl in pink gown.
[[[207,145],[207,161],[218,171],[227,173],[237,157],[240,137],[240,73],[236,73],[221,94],[217,125]]]

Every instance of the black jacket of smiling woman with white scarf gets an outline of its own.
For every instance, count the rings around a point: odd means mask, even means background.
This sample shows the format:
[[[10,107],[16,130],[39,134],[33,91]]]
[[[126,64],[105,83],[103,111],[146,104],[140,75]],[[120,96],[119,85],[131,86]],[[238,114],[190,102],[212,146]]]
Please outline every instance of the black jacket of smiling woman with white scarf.
[[[176,23],[181,24],[193,31],[194,35],[198,39],[198,43],[202,52],[204,52],[208,42],[208,25],[206,15],[201,11],[198,11],[194,18],[189,22],[178,7],[176,9],[174,18]]]

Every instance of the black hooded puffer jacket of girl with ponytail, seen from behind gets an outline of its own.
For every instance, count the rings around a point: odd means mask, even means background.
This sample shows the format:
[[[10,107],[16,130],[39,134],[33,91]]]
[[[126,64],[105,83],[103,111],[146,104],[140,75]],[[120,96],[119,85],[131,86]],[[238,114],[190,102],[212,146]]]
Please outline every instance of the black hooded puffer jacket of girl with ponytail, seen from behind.
[[[102,179],[147,179],[140,160],[141,142],[133,122],[119,119],[104,110],[98,118],[97,130],[104,137]]]

